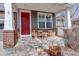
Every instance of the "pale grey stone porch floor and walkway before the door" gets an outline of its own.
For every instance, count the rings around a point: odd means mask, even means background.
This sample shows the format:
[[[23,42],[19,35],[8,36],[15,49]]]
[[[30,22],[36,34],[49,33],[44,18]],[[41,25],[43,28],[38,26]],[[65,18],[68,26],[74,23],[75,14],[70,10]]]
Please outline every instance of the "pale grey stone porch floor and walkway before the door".
[[[65,39],[61,37],[51,37],[47,39],[31,39],[21,38],[17,42],[14,48],[3,49],[3,43],[0,41],[0,55],[3,56],[48,56],[46,52],[43,52],[41,55],[38,55],[37,48],[48,48],[48,45],[58,44],[62,47],[62,54],[64,56],[79,56],[79,52],[75,52],[70,48],[65,47],[66,43],[64,43]],[[53,43],[52,43],[53,42]]]

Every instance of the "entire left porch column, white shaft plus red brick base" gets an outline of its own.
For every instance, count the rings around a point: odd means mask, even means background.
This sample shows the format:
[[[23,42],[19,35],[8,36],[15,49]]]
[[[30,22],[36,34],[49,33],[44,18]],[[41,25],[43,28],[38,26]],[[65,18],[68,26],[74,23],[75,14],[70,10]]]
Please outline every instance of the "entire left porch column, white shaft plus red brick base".
[[[4,3],[5,20],[3,31],[3,47],[13,48],[17,42],[17,33],[14,28],[14,19],[11,3]]]

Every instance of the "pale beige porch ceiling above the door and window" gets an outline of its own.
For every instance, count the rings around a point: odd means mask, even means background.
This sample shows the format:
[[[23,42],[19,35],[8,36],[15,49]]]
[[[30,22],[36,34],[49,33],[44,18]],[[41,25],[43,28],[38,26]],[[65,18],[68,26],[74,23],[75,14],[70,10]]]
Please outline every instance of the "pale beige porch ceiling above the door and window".
[[[68,3],[16,3],[17,8],[44,11],[44,12],[59,12],[71,7]]]

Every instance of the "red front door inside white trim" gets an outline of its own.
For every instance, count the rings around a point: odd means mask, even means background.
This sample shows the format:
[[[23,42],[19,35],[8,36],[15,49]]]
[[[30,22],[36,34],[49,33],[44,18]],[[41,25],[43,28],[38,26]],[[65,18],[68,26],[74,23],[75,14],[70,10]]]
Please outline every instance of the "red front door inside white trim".
[[[30,13],[21,12],[21,35],[30,35]]]

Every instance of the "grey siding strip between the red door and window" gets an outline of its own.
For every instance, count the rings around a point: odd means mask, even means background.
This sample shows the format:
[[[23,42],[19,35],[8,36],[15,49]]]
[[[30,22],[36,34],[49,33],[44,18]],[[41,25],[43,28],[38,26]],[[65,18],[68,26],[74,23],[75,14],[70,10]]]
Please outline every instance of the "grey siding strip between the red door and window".
[[[32,29],[37,28],[37,11],[31,11],[31,26]]]

